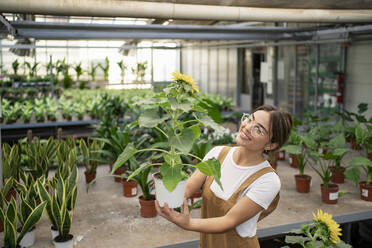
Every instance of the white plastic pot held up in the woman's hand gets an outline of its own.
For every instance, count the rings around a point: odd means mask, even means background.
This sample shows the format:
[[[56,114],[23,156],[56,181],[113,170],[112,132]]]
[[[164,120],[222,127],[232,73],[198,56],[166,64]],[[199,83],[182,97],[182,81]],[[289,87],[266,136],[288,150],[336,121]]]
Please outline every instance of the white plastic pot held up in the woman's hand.
[[[155,173],[156,174],[156,173]],[[186,190],[187,180],[183,180],[177,184],[177,187],[172,192],[169,192],[161,179],[152,175],[155,182],[156,200],[158,200],[160,207],[164,207],[164,203],[168,203],[169,208],[178,208],[183,205],[183,199]]]

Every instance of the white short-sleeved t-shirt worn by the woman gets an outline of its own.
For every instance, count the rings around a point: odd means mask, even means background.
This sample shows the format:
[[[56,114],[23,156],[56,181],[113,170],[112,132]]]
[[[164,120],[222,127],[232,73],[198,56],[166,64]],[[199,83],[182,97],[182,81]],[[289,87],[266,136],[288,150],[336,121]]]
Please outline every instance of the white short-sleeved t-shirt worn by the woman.
[[[210,158],[217,159],[222,148],[223,146],[214,147],[207,153],[207,155],[205,155],[203,160],[208,160]],[[240,187],[240,185],[253,173],[270,166],[268,161],[264,161],[255,166],[237,165],[232,156],[237,148],[238,147],[233,147],[230,149],[221,165],[221,184],[224,190],[222,191],[220,186],[215,181],[213,181],[210,186],[212,192],[217,197],[224,200],[228,200],[230,196],[232,196],[233,193]],[[264,209],[267,209],[270,203],[274,200],[275,196],[278,194],[279,190],[280,179],[278,175],[274,172],[269,172],[257,178],[248,188],[243,191],[243,193],[239,196],[239,199],[243,196],[247,196]],[[261,212],[262,211],[235,228],[241,237],[253,237],[256,235],[257,221]]]

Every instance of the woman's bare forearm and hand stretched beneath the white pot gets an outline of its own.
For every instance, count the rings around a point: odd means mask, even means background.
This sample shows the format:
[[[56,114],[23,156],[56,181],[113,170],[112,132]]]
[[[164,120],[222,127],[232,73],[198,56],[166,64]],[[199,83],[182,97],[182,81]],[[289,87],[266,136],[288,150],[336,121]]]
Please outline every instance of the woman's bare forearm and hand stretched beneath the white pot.
[[[182,213],[169,209],[167,204],[163,208],[160,208],[157,201],[155,203],[155,207],[160,216],[163,216],[167,220],[175,223],[177,226],[185,230],[202,233],[226,232],[249,220],[258,214],[258,212],[263,210],[260,205],[252,201],[247,196],[244,196],[242,199],[240,199],[225,216],[216,218],[191,219],[186,200],[184,201]]]

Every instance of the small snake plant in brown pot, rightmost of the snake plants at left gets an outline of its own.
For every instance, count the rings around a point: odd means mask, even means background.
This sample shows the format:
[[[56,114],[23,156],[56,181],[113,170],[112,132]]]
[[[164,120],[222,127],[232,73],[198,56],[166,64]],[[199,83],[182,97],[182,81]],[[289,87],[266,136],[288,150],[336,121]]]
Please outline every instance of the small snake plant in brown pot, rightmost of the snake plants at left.
[[[96,178],[97,166],[99,162],[103,162],[99,153],[99,151],[102,150],[103,145],[104,143],[98,140],[88,140],[88,144],[83,139],[80,140],[79,148],[82,163],[86,168],[84,172],[86,183],[90,183]]]

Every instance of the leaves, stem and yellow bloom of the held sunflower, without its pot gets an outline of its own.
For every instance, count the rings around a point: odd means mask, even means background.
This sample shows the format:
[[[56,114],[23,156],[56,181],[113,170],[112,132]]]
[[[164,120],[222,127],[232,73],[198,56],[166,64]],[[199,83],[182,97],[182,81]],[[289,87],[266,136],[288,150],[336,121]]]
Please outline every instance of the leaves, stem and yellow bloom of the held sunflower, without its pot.
[[[224,128],[209,115],[211,106],[199,97],[199,90],[191,75],[173,72],[173,80],[163,92],[136,104],[143,112],[131,125],[140,128],[156,129],[164,136],[164,142],[149,144],[148,148],[137,149],[129,143],[113,165],[112,172],[123,165],[131,157],[143,155],[144,152],[155,153],[163,158],[160,162],[146,162],[134,171],[128,180],[146,168],[160,165],[160,174],[165,188],[172,192],[177,184],[187,178],[185,167],[193,166],[208,176],[213,176],[220,184],[220,163],[217,159],[202,161],[190,153],[195,140],[201,135],[201,127],[212,128],[223,133]],[[209,111],[214,112],[214,111]],[[196,165],[184,162],[185,157],[196,159]],[[221,184],[220,184],[221,185]]]

